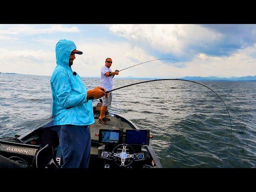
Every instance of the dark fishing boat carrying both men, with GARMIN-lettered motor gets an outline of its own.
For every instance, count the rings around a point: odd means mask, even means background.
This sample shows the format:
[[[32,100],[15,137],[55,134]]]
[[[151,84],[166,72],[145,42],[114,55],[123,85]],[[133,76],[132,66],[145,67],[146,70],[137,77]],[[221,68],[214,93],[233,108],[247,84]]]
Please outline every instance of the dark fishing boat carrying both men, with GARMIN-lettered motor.
[[[95,123],[90,125],[89,169],[162,168],[150,145],[150,131],[139,129],[119,114],[106,111],[108,124],[98,118],[102,101],[93,107]],[[60,168],[63,164],[53,122],[14,138],[0,138],[0,167]]]

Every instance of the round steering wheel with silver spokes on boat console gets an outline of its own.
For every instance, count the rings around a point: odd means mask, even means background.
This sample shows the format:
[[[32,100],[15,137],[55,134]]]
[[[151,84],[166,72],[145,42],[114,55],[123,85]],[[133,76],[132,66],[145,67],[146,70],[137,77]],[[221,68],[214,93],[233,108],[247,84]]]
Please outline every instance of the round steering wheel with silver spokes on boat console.
[[[120,146],[123,146],[122,152],[121,152],[121,153],[117,153],[117,149],[118,149],[118,147],[120,147]],[[127,154],[127,153],[126,153],[126,147],[128,147],[129,149],[132,150],[132,154]],[[120,167],[126,167],[126,166],[129,166],[130,164],[132,164],[132,162],[134,162],[134,159],[135,159],[134,155],[135,155],[135,150],[134,150],[134,148],[132,148],[132,146],[130,146],[130,145],[128,145],[128,144],[120,144],[120,145],[116,146],[116,147],[113,149],[113,152],[112,152],[112,159],[113,159],[113,161],[114,161],[118,166],[120,166]],[[116,162],[117,160],[115,160],[114,157],[119,157],[119,158],[121,158],[121,164],[118,164],[118,163]],[[125,160],[126,160],[127,158],[132,158],[132,161],[131,161],[129,164],[124,165],[124,162],[125,162]]]

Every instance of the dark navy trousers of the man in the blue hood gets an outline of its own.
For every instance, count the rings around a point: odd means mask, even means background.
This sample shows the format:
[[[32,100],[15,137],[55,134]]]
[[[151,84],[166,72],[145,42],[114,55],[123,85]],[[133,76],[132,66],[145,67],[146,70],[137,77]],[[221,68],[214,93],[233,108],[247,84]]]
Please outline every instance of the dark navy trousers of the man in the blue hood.
[[[91,151],[90,125],[61,125],[58,137],[63,158],[61,168],[88,168]]]

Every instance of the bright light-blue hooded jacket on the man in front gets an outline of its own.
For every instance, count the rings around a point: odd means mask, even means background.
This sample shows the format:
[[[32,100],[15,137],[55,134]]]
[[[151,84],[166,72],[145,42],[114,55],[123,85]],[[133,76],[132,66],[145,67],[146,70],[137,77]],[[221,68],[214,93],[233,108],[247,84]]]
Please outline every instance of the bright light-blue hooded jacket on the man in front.
[[[50,79],[54,125],[90,125],[95,123],[92,100],[87,100],[87,89],[78,74],[69,66],[74,42],[59,40],[56,44],[57,66]],[[68,108],[68,109],[67,109]]]

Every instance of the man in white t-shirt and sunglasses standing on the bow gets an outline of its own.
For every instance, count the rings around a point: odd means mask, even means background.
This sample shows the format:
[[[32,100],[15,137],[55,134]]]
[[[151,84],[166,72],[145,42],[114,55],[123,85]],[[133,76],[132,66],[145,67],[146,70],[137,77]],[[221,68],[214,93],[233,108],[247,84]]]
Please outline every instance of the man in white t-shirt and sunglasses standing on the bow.
[[[113,85],[113,78],[115,75],[118,75],[118,70],[115,72],[112,72],[110,69],[112,64],[112,59],[111,58],[106,58],[105,61],[105,66],[101,68],[100,72],[100,86],[104,87],[107,91],[112,90],[112,85]],[[101,124],[108,124],[107,121],[110,121],[110,118],[105,117],[106,110],[108,106],[111,105],[112,101],[112,92],[108,93],[108,98],[102,97],[102,107],[100,110],[100,117],[98,118],[98,122]]]

